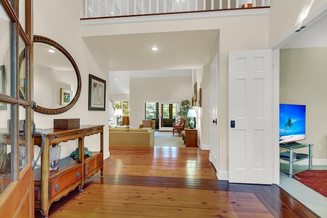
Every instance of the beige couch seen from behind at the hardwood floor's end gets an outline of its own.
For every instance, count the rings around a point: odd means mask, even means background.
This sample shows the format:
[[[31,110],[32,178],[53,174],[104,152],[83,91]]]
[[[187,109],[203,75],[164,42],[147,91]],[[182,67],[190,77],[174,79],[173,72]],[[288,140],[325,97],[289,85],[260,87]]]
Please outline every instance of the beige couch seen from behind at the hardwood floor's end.
[[[154,130],[151,128],[127,129],[109,125],[109,146],[154,146]]]

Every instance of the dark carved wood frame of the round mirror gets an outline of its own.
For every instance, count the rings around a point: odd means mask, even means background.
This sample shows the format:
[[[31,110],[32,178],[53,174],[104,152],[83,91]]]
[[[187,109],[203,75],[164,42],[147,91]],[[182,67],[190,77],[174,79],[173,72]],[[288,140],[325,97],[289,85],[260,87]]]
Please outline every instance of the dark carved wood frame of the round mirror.
[[[34,42],[41,42],[41,43],[45,43],[45,44],[49,44],[51,46],[54,46],[56,49],[58,49],[62,54],[64,54],[64,56],[66,56],[66,58],[69,60],[69,62],[72,63],[75,72],[76,72],[76,77],[77,77],[77,91],[76,94],[74,96],[74,99],[72,99],[72,101],[67,104],[66,106],[62,107],[62,108],[57,108],[57,109],[50,109],[50,108],[43,108],[39,105],[37,105],[37,107],[34,109],[34,111],[39,112],[39,113],[43,113],[43,114],[60,114],[63,113],[69,109],[71,109],[77,102],[80,94],[81,94],[81,89],[82,89],[82,83],[81,83],[81,75],[80,75],[80,71],[77,67],[76,62],[74,61],[73,57],[57,42],[55,42],[52,39],[46,38],[44,36],[37,36],[34,35]],[[34,84],[35,85],[35,84]]]

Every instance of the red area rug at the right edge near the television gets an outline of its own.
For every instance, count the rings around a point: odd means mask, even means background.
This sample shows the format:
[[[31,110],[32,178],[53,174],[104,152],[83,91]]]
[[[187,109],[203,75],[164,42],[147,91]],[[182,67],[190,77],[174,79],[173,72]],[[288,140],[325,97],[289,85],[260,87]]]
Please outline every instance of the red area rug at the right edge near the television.
[[[327,198],[327,170],[303,171],[293,178]]]

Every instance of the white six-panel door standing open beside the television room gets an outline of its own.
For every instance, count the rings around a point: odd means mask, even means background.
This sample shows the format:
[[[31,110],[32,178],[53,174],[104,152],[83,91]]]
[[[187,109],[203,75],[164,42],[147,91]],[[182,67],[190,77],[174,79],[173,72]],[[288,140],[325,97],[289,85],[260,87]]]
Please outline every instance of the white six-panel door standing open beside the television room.
[[[228,180],[232,183],[272,184],[271,57],[271,50],[229,52]]]

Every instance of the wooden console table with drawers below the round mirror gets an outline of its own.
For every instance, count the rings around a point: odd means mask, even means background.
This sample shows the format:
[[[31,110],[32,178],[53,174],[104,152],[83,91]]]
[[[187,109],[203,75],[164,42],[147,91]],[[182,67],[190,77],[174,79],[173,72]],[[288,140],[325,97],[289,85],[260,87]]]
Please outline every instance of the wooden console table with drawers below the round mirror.
[[[34,205],[36,210],[42,212],[43,217],[48,217],[49,207],[54,201],[66,196],[77,186],[80,193],[84,180],[91,177],[101,169],[103,176],[103,125],[80,126],[79,129],[44,129],[38,130],[45,136],[41,154],[41,167],[34,171]],[[98,152],[92,156],[84,156],[84,137],[100,133],[100,146]],[[78,139],[78,159],[64,157],[59,161],[55,171],[49,171],[49,148],[68,140]],[[41,136],[36,135],[34,144],[41,146]],[[72,151],[73,152],[73,151]]]

